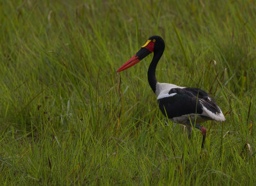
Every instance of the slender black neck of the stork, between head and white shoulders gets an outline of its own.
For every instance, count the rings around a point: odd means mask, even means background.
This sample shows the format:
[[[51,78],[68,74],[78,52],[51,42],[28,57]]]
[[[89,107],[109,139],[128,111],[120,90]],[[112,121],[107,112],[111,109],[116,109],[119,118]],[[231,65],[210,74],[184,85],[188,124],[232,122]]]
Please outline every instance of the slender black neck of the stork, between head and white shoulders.
[[[152,90],[154,91],[154,93],[156,93],[156,84],[157,84],[156,66],[157,66],[159,59],[163,55],[163,52],[164,52],[164,49],[154,52],[153,59],[148,67],[148,83],[149,83],[150,87],[152,88]]]

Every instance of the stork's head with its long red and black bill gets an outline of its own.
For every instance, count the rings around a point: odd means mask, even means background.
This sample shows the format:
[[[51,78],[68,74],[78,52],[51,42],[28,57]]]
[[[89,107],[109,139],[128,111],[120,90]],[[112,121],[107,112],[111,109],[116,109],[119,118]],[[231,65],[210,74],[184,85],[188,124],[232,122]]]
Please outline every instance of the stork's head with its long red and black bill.
[[[151,36],[148,38],[145,45],[141,47],[141,49],[131,58],[129,59],[123,66],[121,66],[117,72],[121,72],[131,66],[139,63],[143,58],[148,56],[148,54],[152,52],[158,52],[159,50],[164,50],[164,40],[160,36]]]

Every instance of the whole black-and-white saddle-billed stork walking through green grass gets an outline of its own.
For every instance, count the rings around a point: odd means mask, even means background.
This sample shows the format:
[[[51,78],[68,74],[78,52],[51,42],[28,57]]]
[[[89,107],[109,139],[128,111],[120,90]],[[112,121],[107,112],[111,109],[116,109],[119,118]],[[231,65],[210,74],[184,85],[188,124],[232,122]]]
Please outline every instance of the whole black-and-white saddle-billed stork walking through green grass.
[[[203,136],[201,147],[204,148],[206,128],[196,123],[202,123],[207,120],[225,121],[225,117],[220,107],[202,89],[157,82],[156,66],[163,55],[164,47],[163,38],[151,36],[145,45],[129,61],[121,66],[117,72],[135,65],[148,56],[148,54],[154,52],[153,59],[148,68],[148,82],[157,96],[159,109],[171,121],[186,125],[189,138],[193,126],[201,130]]]

